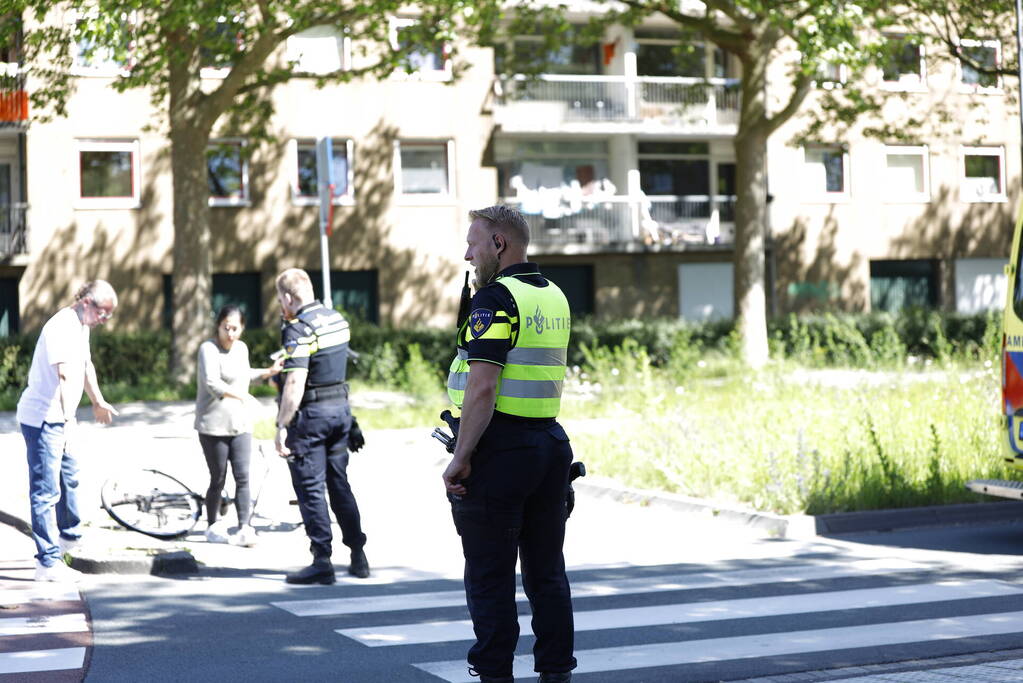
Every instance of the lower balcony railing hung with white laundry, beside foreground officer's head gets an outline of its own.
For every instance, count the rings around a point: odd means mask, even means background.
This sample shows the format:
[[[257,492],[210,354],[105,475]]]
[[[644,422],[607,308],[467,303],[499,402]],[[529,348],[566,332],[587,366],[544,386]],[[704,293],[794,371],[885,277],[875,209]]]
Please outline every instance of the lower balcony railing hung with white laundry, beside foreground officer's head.
[[[608,196],[538,206],[504,203],[523,212],[536,254],[597,254],[730,248],[735,196]]]

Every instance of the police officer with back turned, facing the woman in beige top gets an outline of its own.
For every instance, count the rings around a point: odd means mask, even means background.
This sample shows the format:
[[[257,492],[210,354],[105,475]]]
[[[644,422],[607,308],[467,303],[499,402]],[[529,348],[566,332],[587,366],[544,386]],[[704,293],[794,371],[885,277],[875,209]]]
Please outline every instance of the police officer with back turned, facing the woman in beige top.
[[[332,584],[330,508],[341,526],[342,542],[352,551],[348,573],[369,576],[362,547],[359,506],[348,483],[348,407],[345,371],[348,321],[316,301],[309,275],[298,268],[277,276],[277,301],[283,311],[284,386],[277,413],[277,453],[288,459],[292,484],[309,536],[312,564],[287,575],[290,584]]]

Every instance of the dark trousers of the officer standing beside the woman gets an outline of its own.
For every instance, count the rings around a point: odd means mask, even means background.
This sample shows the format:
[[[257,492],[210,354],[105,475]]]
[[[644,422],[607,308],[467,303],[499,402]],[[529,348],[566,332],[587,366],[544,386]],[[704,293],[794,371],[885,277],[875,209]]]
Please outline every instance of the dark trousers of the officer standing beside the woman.
[[[347,446],[351,426],[348,401],[341,399],[302,406],[287,428],[285,445],[294,456],[288,459],[292,485],[313,557],[329,557],[332,552],[330,512],[324,491],[329,497],[329,508],[338,517],[342,543],[349,548],[361,548],[366,543],[359,506],[348,484]]]

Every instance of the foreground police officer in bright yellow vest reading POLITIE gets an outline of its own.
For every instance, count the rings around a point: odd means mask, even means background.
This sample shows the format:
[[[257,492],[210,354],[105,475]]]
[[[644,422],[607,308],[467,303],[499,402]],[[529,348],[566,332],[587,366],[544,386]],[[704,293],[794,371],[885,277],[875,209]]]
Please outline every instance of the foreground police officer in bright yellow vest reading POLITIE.
[[[535,669],[540,681],[560,683],[576,666],[563,554],[572,448],[555,419],[571,316],[558,285],[526,261],[529,227],[521,214],[497,206],[470,218],[465,260],[476,269],[476,294],[448,374],[461,416],[443,474],[476,632],[470,673],[513,681],[521,554]]]

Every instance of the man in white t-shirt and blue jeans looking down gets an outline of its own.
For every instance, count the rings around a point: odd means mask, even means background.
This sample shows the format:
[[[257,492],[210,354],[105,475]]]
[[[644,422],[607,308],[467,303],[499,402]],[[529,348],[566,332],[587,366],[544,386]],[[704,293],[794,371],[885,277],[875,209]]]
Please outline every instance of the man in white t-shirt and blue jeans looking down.
[[[89,330],[110,319],[118,295],[105,280],[93,280],[75,303],[50,318],[36,343],[29,385],[17,402],[17,421],[29,459],[29,502],[36,541],[36,581],[74,581],[78,573],[61,559],[80,538],[78,463],[73,455],[75,412],[82,391],[96,421],[109,424],[118,411],[99,391],[89,351]]]

